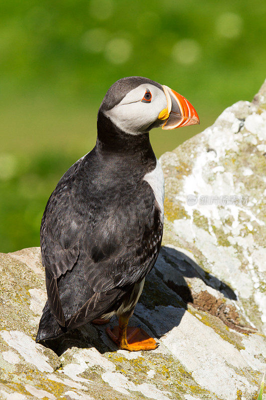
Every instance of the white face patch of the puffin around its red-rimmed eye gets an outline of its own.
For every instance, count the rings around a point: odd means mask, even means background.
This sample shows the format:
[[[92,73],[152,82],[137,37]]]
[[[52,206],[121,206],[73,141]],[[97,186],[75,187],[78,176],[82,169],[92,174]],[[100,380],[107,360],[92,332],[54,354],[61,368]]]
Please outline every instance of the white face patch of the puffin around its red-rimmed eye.
[[[142,102],[149,89],[152,95],[150,102]],[[167,99],[163,90],[151,83],[142,83],[108,111],[105,115],[126,133],[140,134],[158,119],[159,113],[167,107]],[[162,121],[163,125],[164,121]]]

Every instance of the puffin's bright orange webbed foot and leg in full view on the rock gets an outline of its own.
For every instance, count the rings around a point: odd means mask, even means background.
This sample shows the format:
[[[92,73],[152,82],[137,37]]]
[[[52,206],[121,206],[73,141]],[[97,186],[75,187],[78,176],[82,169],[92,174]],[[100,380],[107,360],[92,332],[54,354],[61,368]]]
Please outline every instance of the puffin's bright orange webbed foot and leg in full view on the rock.
[[[158,343],[145,330],[133,326],[127,326],[127,317],[120,316],[119,326],[112,330],[106,328],[106,333],[118,345],[119,348],[129,351],[154,350]]]

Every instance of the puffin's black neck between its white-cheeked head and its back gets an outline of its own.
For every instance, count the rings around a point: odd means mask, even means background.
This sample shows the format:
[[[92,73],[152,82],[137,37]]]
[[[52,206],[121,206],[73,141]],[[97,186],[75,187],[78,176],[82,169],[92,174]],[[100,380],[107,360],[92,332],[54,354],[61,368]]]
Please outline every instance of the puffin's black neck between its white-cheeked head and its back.
[[[101,110],[98,112],[97,132],[95,146],[97,152],[112,157],[122,156],[132,159],[133,163],[145,164],[148,170],[154,168],[156,157],[150,143],[149,132],[137,135],[125,133]]]

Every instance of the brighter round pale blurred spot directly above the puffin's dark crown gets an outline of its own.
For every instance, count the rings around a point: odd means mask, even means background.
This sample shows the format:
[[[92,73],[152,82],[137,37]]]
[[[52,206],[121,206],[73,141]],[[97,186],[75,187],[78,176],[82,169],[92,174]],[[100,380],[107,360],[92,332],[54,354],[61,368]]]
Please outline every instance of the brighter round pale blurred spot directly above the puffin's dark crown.
[[[105,56],[108,61],[114,64],[122,64],[128,60],[131,51],[132,45],[129,40],[115,38],[107,43]]]

